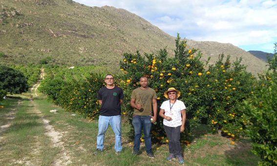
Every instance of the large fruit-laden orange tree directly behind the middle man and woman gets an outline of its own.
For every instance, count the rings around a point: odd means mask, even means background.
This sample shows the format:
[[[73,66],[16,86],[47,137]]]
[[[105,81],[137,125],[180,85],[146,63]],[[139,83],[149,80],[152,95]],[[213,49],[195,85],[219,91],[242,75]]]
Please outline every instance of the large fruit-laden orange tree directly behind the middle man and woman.
[[[230,57],[223,62],[224,56],[219,57],[215,65],[207,66],[200,61],[201,54],[196,49],[186,49],[186,41],[176,40],[175,56],[168,57],[166,49],[161,49],[157,55],[124,54],[120,62],[123,72],[122,85],[126,99],[130,99],[133,89],[139,87],[141,76],[149,78],[149,87],[157,93],[158,108],[164,98],[163,93],[169,87],[181,91],[180,100],[187,106],[187,123],[182,138],[190,135],[191,127],[207,124],[214,131],[223,130],[222,134],[238,137],[243,122],[239,104],[251,95],[251,85],[256,79],[245,71],[240,60],[231,64]],[[123,106],[129,122],[132,119],[132,108],[129,100]],[[153,125],[152,138],[161,143],[167,138],[163,130],[162,119],[158,118]],[[130,132],[132,137],[133,131]],[[189,139],[189,138],[186,138]]]

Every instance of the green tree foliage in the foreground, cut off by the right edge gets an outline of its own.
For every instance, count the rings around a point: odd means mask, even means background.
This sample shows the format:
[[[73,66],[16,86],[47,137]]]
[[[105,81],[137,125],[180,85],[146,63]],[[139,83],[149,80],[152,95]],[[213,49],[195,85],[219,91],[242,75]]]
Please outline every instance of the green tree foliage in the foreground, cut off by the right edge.
[[[244,102],[247,133],[261,166],[277,165],[277,73],[261,77],[255,95]]]

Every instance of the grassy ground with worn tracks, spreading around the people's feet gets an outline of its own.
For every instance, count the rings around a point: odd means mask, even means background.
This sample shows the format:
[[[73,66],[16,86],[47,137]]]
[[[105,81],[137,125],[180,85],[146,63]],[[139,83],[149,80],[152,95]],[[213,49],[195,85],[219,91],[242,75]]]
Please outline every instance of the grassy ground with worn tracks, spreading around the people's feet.
[[[31,94],[16,98],[8,98],[1,104],[0,125],[10,123],[7,130],[0,133],[0,163],[11,165],[57,165],[59,160],[72,166],[104,165],[104,166],[172,166],[179,165],[177,160],[166,161],[168,145],[152,145],[156,156],[149,159],[146,156],[144,144],[141,154],[132,155],[132,145],[127,137],[130,125],[122,126],[123,151],[116,155],[113,149],[114,134],[108,128],[105,137],[104,152],[94,153],[96,149],[97,121],[88,121],[82,115],[66,112],[64,109],[47,101],[40,95],[29,100]],[[49,112],[57,109],[58,113]],[[40,111],[41,113],[39,113]],[[9,112],[15,112],[15,119],[6,119]],[[58,145],[53,144],[42,119],[49,120],[49,125],[62,135]],[[230,140],[219,135],[205,133],[205,126],[195,130],[190,146],[183,146],[186,165],[189,166],[252,166],[257,165],[258,157],[250,150],[250,140],[242,139],[235,145]],[[65,154],[65,155],[64,155]],[[61,162],[60,161],[60,162]]]

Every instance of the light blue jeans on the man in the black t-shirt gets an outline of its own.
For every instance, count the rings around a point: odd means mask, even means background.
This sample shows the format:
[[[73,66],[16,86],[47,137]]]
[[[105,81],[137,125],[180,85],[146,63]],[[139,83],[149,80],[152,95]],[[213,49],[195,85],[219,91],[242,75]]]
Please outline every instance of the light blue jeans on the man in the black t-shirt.
[[[115,151],[122,150],[121,144],[121,116],[99,116],[98,120],[98,135],[97,135],[97,148],[103,150],[104,148],[104,139],[105,132],[107,131],[108,125],[111,126],[114,134],[115,134]]]

